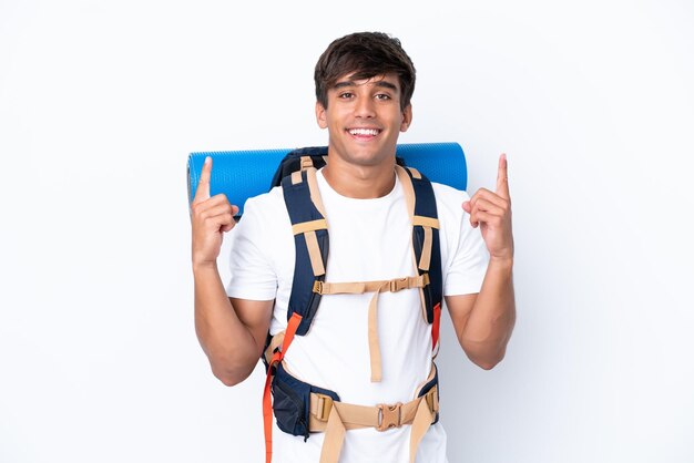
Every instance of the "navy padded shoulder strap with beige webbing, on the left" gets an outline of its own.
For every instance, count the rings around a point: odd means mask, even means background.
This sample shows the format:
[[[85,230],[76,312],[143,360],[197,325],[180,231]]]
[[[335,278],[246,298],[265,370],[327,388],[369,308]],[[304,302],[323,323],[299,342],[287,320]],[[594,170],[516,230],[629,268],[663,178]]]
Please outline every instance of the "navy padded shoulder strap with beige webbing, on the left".
[[[318,309],[320,294],[314,291],[316,281],[325,281],[328,263],[328,225],[318,192],[316,169],[297,171],[282,181],[285,204],[292,220],[296,260],[294,281],[287,309],[287,320],[297,312],[302,322],[296,335],[308,332]]]

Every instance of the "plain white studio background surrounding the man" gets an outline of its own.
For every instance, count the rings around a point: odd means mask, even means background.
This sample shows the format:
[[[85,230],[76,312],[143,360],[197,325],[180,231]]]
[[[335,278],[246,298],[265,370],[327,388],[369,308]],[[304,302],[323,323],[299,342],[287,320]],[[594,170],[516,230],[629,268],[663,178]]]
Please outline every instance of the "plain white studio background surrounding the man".
[[[457,462],[694,461],[688,1],[0,0],[0,461],[258,462],[261,368],[193,328],[192,151],[325,144],[313,66],[382,30],[400,142],[509,155],[518,323],[473,367],[446,318]]]

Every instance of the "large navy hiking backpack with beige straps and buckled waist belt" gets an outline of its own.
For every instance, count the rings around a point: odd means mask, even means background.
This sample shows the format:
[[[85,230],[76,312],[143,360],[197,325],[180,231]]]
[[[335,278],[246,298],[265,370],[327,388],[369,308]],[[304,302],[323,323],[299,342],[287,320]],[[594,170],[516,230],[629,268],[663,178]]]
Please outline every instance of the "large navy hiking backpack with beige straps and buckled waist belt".
[[[288,153],[279,164],[273,186],[280,186],[292,222],[296,263],[285,331],[267,336],[263,361],[267,370],[263,397],[266,462],[272,460],[272,414],[278,428],[293,435],[309,438],[310,432],[326,432],[322,463],[337,463],[347,429],[374,426],[379,431],[411,424],[410,461],[427,429],[438,421],[438,374],[432,362],[429,378],[417,397],[405,404],[376,407],[340,402],[335,391],[317,388],[289,374],[283,358],[294,336],[305,336],[324,295],[374,292],[369,306],[369,327],[376,319],[378,294],[417,289],[422,317],[431,325],[432,352],[438,349],[442,300],[439,225],[433,188],[417,169],[397,160],[397,175],[402,185],[412,226],[412,253],[417,276],[384,281],[326,281],[329,233],[326,214],[316,183],[316,171],[327,162],[327,147],[308,147]],[[374,321],[375,322],[375,321]],[[380,350],[377,330],[369,329],[371,381],[380,381]],[[274,403],[271,398],[274,397]]]

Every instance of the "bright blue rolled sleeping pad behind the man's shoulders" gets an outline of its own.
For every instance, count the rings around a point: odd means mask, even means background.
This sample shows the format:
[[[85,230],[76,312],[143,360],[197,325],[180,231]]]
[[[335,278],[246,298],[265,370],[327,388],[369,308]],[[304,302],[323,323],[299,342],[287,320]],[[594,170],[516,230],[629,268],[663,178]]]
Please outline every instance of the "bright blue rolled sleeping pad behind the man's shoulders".
[[[205,157],[212,157],[210,195],[224,193],[229,203],[238,206],[238,215],[249,197],[267,193],[273,176],[284,156],[293,148],[200,152],[188,155],[188,203],[193,202]],[[457,189],[466,189],[468,169],[458,143],[404,143],[396,155],[405,165],[415,167],[431,182]],[[328,160],[329,162],[329,160]]]

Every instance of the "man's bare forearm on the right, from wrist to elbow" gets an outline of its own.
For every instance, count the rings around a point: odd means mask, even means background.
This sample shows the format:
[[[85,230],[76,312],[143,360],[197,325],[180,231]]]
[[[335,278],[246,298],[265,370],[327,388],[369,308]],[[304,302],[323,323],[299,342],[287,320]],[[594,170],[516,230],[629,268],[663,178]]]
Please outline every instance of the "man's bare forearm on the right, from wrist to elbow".
[[[512,260],[490,260],[480,294],[459,333],[468,357],[484,369],[503,359],[516,323],[512,269]]]

